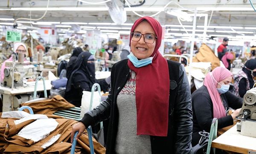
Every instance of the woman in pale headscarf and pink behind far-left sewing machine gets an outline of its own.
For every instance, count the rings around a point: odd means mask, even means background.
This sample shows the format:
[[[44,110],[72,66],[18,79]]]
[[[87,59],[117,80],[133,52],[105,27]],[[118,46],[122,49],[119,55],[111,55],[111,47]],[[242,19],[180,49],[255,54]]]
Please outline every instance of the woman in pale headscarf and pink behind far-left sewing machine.
[[[13,52],[15,52],[17,54],[18,53],[26,54],[26,45],[24,43],[20,43],[20,42],[19,43],[15,43],[14,47],[13,47]],[[24,61],[26,61],[26,59],[24,59]],[[2,66],[1,66],[1,73],[0,73],[0,75],[1,75],[0,82],[1,83],[3,82],[3,78],[4,78],[3,70],[6,68],[6,66],[5,66],[6,62],[12,62],[12,56],[9,59],[7,59],[6,61],[4,61]]]

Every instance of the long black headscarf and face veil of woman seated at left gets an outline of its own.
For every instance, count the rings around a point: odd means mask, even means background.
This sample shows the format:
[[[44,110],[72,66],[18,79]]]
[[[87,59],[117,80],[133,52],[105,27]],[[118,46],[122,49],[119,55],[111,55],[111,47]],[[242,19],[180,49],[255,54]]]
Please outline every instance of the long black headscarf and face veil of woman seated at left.
[[[94,56],[89,52],[79,54],[76,64],[71,71],[70,78],[68,78],[66,92],[71,90],[71,85],[74,84],[74,81],[79,82],[80,87],[84,87],[83,84],[89,84],[91,89],[96,82],[94,60]]]

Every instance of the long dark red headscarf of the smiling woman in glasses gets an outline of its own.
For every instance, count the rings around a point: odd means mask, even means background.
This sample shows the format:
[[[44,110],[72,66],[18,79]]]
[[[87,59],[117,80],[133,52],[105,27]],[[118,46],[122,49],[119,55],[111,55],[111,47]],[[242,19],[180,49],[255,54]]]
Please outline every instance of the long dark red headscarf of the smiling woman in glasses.
[[[136,73],[137,135],[167,136],[170,81],[167,61],[158,51],[162,26],[152,17],[142,17],[134,22],[131,32],[143,20],[154,29],[157,39],[152,64],[137,68],[128,60],[129,68]]]

